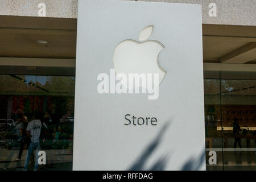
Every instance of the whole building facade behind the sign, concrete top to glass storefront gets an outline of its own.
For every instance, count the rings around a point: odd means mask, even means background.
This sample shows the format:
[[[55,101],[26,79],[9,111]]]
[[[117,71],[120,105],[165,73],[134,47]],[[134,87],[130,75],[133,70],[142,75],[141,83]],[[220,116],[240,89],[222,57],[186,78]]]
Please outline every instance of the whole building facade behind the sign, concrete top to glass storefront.
[[[207,169],[255,170],[256,1],[154,2],[202,7]],[[48,131],[39,169],[71,170],[78,3],[0,4],[0,169],[24,167],[28,144],[20,150],[20,130],[40,114]]]

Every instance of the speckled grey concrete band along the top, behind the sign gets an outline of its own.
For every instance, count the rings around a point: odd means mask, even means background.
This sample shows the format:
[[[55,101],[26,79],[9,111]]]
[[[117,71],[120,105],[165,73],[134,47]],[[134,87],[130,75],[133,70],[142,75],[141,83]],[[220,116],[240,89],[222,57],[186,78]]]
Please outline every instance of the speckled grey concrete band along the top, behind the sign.
[[[81,0],[80,0],[81,1]],[[86,1],[86,0],[83,0]],[[203,24],[256,26],[255,0],[141,0],[202,5]],[[39,3],[46,4],[46,17],[77,18],[77,0],[0,0],[0,15],[39,16]],[[209,16],[210,3],[216,4],[216,16]],[[171,17],[166,17],[171,18]]]

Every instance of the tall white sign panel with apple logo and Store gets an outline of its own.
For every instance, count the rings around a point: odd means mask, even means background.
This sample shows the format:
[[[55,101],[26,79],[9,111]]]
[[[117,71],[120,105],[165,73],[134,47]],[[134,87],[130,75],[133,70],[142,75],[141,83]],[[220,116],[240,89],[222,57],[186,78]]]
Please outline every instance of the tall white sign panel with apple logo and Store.
[[[201,5],[79,1],[75,170],[204,170]]]

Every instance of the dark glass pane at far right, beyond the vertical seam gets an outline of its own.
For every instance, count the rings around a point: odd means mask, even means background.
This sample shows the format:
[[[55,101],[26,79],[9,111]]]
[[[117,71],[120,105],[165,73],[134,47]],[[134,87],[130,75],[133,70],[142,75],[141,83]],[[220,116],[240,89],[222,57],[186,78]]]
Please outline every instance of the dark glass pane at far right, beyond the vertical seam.
[[[255,170],[255,73],[222,72],[222,77],[224,169]]]

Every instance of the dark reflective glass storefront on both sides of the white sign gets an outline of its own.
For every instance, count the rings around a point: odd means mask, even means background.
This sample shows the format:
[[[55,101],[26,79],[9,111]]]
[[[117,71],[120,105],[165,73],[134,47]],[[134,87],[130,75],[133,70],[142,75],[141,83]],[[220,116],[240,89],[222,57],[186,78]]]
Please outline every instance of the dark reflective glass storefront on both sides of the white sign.
[[[23,169],[24,130],[40,115],[47,126],[40,149],[47,155],[38,169],[71,170],[75,76],[6,74],[0,85],[0,169]],[[204,94],[207,170],[255,170],[256,72],[205,71]],[[210,165],[212,150],[217,164]],[[28,170],[34,165],[35,154]]]

